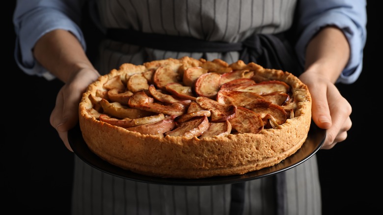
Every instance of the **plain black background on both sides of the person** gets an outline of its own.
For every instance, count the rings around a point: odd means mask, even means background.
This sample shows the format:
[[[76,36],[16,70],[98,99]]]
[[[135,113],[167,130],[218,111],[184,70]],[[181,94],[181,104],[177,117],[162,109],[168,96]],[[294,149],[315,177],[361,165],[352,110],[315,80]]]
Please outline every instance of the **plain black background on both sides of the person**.
[[[12,2],[12,3],[10,3]],[[353,127],[348,139],[318,155],[323,214],[372,214],[381,207],[379,167],[382,140],[382,44],[378,33],[382,18],[378,2],[368,1],[367,43],[363,72],[351,85],[339,84],[353,106]],[[10,214],[67,215],[70,207],[73,154],[49,124],[60,81],[28,76],[16,65],[12,15],[8,1],[3,21],[1,133],[1,201]],[[4,16],[4,14],[3,14]],[[379,17],[379,18],[378,18]],[[374,194],[375,193],[375,194]]]

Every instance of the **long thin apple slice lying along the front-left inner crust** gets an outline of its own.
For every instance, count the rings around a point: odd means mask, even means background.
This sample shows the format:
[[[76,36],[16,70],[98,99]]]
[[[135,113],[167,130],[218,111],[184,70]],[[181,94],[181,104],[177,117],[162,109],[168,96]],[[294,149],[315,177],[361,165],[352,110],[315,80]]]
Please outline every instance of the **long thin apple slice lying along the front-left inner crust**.
[[[139,125],[144,125],[148,123],[155,123],[163,120],[165,118],[164,114],[160,113],[158,115],[153,115],[153,116],[145,116],[137,119],[129,119],[129,118],[124,118],[124,119],[116,119],[109,117],[106,114],[101,114],[99,119],[100,121],[109,123],[110,125],[114,126],[119,126],[122,128],[130,128],[130,127],[135,127]]]

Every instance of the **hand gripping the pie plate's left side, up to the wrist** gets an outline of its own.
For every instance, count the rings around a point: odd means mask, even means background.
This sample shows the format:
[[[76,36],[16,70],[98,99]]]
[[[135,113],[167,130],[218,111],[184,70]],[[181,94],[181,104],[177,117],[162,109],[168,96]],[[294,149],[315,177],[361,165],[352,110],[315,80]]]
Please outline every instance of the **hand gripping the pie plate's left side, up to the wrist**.
[[[72,152],[68,141],[68,131],[78,123],[82,93],[99,76],[100,74],[94,69],[82,68],[61,87],[57,94],[50,123],[56,129],[65,146]]]

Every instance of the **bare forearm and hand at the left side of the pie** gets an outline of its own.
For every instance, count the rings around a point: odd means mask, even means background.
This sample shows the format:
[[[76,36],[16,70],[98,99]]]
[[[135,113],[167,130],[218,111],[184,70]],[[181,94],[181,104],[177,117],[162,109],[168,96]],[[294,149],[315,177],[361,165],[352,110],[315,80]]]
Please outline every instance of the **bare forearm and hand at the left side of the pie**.
[[[36,60],[65,85],[60,89],[51,113],[51,125],[65,146],[68,131],[79,119],[79,103],[87,86],[100,74],[87,58],[79,40],[69,31],[56,29],[43,35],[33,49]]]

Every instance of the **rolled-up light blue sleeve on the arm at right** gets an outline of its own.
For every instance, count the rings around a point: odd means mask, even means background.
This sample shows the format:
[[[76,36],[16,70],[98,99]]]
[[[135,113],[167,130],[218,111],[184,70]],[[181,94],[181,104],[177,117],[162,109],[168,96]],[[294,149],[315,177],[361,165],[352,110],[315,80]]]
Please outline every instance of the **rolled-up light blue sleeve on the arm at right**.
[[[310,39],[326,26],[339,27],[350,44],[350,59],[337,82],[355,82],[363,66],[363,49],[366,43],[367,14],[365,0],[301,0],[298,7],[298,30],[296,45],[301,64],[304,65],[305,50]]]

